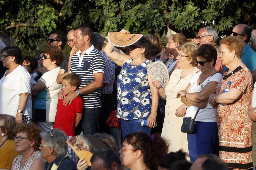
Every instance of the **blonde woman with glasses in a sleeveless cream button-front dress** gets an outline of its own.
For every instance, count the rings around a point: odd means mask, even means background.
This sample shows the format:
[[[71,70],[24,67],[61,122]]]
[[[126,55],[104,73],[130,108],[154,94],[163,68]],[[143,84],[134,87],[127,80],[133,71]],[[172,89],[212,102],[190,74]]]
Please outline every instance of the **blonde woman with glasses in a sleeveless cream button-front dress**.
[[[186,106],[181,102],[181,98],[176,98],[176,94],[180,89],[186,89],[191,78],[199,70],[196,67],[194,56],[194,51],[197,48],[198,45],[188,42],[180,47],[177,55],[177,66],[180,69],[173,71],[165,89],[158,80],[153,80],[153,85],[158,89],[158,93],[166,100],[161,136],[170,141],[169,152],[176,152],[180,149],[188,152],[187,134],[180,131],[183,116],[186,114]],[[204,103],[198,103],[198,107],[203,107],[200,104]]]

